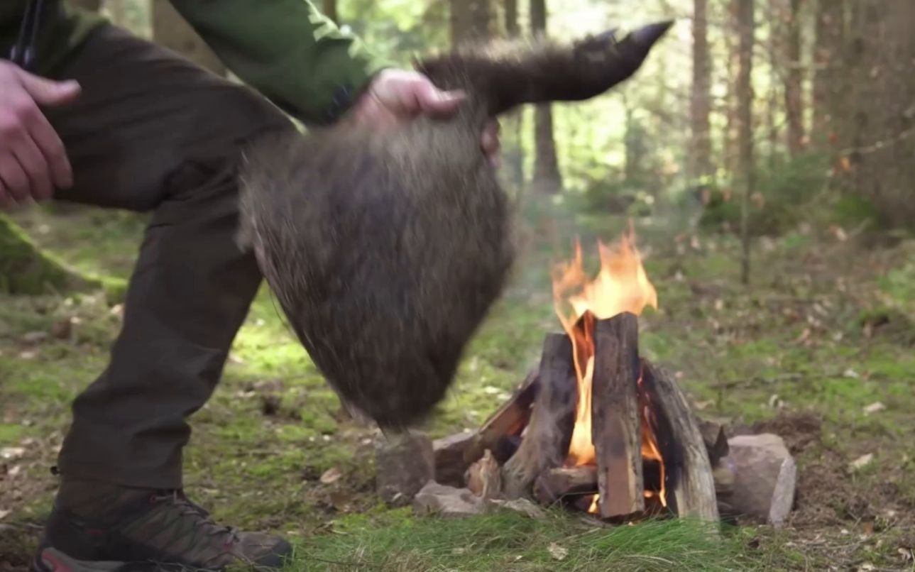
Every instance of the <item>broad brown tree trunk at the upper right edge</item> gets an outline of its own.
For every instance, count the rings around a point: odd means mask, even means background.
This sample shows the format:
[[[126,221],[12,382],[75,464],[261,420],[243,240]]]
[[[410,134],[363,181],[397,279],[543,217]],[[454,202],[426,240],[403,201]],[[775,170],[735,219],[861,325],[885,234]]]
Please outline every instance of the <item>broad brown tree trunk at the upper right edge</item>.
[[[915,203],[915,35],[910,0],[862,0],[856,113],[858,146],[848,156],[860,192],[891,225],[912,228]]]

